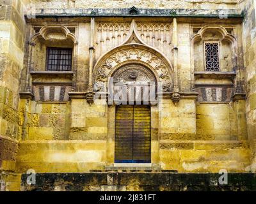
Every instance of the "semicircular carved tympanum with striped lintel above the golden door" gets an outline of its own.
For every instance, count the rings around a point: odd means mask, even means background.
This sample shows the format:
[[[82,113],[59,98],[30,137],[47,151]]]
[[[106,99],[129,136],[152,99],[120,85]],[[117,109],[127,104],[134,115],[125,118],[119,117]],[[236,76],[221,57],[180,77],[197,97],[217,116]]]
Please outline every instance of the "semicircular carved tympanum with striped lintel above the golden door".
[[[151,105],[152,102],[156,103],[159,92],[157,81],[159,80],[157,80],[156,73],[148,68],[147,64],[140,62],[120,64],[111,71],[109,76],[107,90],[109,92],[109,102],[115,101],[113,96],[118,96],[118,92],[126,90],[127,96],[123,99],[134,102],[149,102]]]

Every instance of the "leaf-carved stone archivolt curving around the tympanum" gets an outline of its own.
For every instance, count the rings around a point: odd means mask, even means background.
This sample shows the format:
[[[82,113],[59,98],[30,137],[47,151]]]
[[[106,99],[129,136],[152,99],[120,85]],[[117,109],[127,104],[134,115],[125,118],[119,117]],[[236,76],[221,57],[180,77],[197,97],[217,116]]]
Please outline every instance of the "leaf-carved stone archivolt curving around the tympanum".
[[[158,75],[158,80],[163,83],[163,92],[172,92],[173,82],[172,73],[168,68],[168,65],[159,56],[140,48],[127,48],[125,50],[119,50],[113,53],[102,63],[95,75],[95,84],[93,91],[106,92],[109,73],[115,69],[119,64],[136,64],[136,62],[142,62],[142,64],[148,64],[148,67],[153,68]]]

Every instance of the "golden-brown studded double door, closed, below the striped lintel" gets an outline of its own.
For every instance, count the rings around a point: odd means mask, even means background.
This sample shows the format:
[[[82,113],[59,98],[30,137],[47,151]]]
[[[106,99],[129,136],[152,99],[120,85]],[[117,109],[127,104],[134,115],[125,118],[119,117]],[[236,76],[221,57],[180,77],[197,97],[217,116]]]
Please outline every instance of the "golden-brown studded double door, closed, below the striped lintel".
[[[150,163],[150,106],[116,107],[115,163]]]

